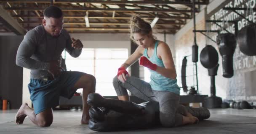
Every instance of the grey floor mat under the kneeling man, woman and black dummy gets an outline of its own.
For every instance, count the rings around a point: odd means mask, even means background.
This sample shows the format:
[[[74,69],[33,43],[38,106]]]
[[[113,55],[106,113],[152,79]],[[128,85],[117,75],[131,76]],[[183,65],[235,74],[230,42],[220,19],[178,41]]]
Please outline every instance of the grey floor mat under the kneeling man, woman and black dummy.
[[[211,115],[199,124],[176,128],[152,128],[104,132],[104,134],[255,134],[256,118],[234,115]],[[40,128],[32,124],[28,118],[24,124],[16,125],[14,121],[0,124],[0,134],[98,134],[87,125],[80,125],[80,117],[72,116],[55,118],[50,127]]]

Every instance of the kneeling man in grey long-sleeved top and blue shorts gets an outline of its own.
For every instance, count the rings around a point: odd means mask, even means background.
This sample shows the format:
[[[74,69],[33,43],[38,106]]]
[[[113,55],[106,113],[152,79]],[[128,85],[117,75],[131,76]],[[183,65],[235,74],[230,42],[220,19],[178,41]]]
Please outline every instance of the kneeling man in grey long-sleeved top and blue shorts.
[[[95,77],[83,72],[61,71],[60,67],[63,50],[78,57],[83,44],[62,30],[63,14],[58,7],[45,8],[43,14],[43,25],[27,32],[17,52],[16,64],[31,70],[28,88],[34,109],[27,103],[22,104],[16,114],[16,124],[22,124],[28,116],[37,126],[50,126],[52,108],[59,105],[59,96],[71,98],[79,88],[83,88],[81,124],[88,124],[86,100],[89,93],[95,92]]]

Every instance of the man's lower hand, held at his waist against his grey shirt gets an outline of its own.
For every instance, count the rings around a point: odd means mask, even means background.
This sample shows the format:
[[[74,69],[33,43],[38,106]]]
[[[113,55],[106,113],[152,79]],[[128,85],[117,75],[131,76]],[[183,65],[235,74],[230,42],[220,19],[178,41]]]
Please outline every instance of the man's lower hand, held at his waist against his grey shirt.
[[[52,61],[50,62],[50,67],[48,69],[48,72],[53,75],[53,78],[58,77],[61,74],[62,67],[60,67],[60,61]]]

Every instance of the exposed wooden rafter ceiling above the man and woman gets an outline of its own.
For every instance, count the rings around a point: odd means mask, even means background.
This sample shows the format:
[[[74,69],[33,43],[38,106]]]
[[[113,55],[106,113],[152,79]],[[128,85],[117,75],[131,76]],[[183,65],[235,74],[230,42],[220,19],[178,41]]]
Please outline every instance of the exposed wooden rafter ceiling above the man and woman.
[[[1,0],[1,3],[24,29],[30,30],[42,23],[43,10],[51,5],[51,0]],[[209,0],[197,0],[195,4],[200,7],[208,3]],[[61,8],[64,27],[72,33],[128,33],[133,14],[140,14],[147,21],[157,15],[157,33],[176,33],[192,19],[189,0],[53,0],[53,5]],[[178,8],[180,5],[182,8]],[[90,27],[85,26],[86,13]]]

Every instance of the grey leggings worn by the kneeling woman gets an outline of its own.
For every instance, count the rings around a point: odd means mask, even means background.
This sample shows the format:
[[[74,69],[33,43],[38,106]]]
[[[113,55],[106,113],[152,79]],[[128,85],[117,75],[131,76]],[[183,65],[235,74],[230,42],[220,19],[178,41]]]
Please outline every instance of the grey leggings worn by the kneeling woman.
[[[123,83],[117,76],[113,85],[118,96],[127,95],[129,90],[133,95],[144,101],[157,101],[160,107],[160,122],[165,127],[181,126],[182,113],[187,113],[184,106],[179,104],[179,95],[169,91],[152,90],[148,82],[137,77],[127,77]],[[127,90],[126,90],[127,89]]]

